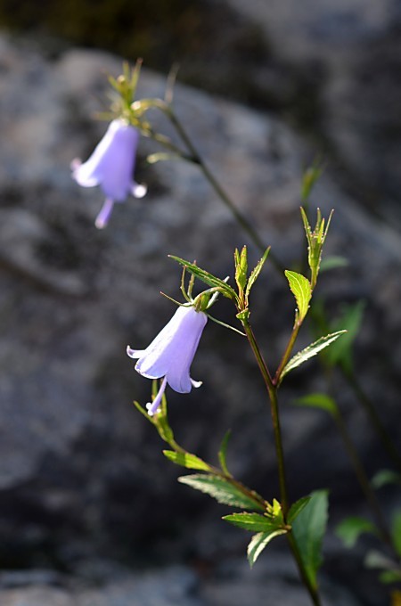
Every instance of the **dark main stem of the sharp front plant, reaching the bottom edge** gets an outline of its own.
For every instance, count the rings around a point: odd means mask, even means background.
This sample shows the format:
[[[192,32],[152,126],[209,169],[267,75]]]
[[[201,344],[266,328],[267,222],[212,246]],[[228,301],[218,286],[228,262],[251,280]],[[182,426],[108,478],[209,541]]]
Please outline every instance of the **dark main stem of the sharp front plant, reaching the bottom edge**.
[[[247,335],[247,338],[250,342],[250,347],[256,357],[258,362],[258,367],[262,377],[265,381],[267,393],[269,395],[270,400],[270,409],[272,414],[273,421],[273,429],[274,429],[274,444],[275,444],[275,452],[277,456],[277,468],[279,475],[279,484],[280,484],[280,498],[282,505],[282,516],[284,522],[286,522],[287,515],[289,512],[289,499],[288,499],[288,490],[287,490],[287,481],[285,477],[285,462],[284,462],[284,452],[282,448],[282,432],[280,427],[280,415],[277,401],[277,386],[274,385],[274,381],[272,381],[272,377],[267,368],[266,362],[260,352],[258,347],[258,342],[255,339],[255,335],[250,327],[250,323],[247,319],[242,320],[242,326]],[[296,336],[295,336],[296,337]],[[294,338],[295,340],[295,338]],[[307,570],[305,569],[304,563],[299,553],[298,545],[295,541],[294,536],[292,535],[291,529],[286,533],[287,540],[289,542],[291,553],[294,560],[297,563],[299,569],[299,576],[302,579],[304,586],[307,588],[307,592],[314,604],[314,606],[321,606],[319,594],[315,586],[312,585],[309,577],[307,576]]]

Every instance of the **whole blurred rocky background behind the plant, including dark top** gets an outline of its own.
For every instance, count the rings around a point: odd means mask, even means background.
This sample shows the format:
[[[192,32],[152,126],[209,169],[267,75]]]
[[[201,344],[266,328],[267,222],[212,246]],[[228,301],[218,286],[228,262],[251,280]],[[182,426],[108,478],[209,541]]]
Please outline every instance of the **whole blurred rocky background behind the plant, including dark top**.
[[[304,246],[300,178],[322,154],[311,205],[335,208],[326,252],[349,266],[323,275],[319,291],[332,315],[364,299],[356,368],[399,443],[400,19],[390,0],[0,0],[2,606],[307,604],[284,542],[250,572],[249,537],[219,520],[224,507],[176,483],[179,469],[131,405],[147,401],[150,381],[133,371],[127,343],[143,347],[172,314],[160,290],[177,296],[167,254],[225,276],[247,239],[196,168],[149,167],[148,141],[136,169],[148,195],[119,205],[98,232],[102,192],[78,188],[70,160],[86,159],[102,136],[93,115],[122,57],[143,57],[139,96],[162,95],[178,61],[190,87],[176,86],[177,113],[242,212],[293,266]],[[258,258],[251,245],[250,257]],[[293,301],[273,266],[253,305],[274,365]],[[215,309],[233,322],[225,302]],[[179,441],[213,459],[231,427],[233,471],[273,498],[273,435],[241,338],[209,325],[192,374],[201,389],[169,394]],[[336,383],[369,473],[389,466],[352,390]],[[340,439],[323,414],[290,405],[318,389],[314,363],[282,389],[291,497],[331,489],[327,606],[384,606],[386,590],[362,565],[371,542],[345,553],[332,534],[343,515],[368,513]],[[390,514],[397,492],[384,496]]]

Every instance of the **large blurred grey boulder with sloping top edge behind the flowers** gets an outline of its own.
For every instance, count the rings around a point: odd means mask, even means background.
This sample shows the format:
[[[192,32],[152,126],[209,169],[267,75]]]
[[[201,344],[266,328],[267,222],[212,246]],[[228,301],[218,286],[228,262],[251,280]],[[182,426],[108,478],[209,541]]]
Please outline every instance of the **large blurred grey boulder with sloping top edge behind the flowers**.
[[[176,485],[176,469],[160,455],[160,441],[131,405],[134,398],[147,401],[150,381],[134,372],[125,348],[127,343],[145,346],[172,314],[172,304],[159,295],[177,297],[180,272],[168,253],[196,258],[224,277],[233,274],[233,248],[247,240],[196,168],[179,162],[148,167],[143,159],[155,148],[147,141],[141,143],[137,168],[138,179],[148,184],[147,197],[119,205],[108,229],[96,231],[102,193],[79,189],[69,166],[74,157],[85,158],[104,131],[92,114],[102,108],[104,73],[119,73],[119,59],[68,50],[48,60],[23,40],[5,36],[0,47],[3,566],[55,566],[83,574],[94,554],[142,565],[182,561],[191,554],[199,569],[211,567],[217,574],[218,561],[241,553],[243,536],[218,521],[223,512],[207,497]],[[163,94],[164,86],[164,78],[143,70],[139,95]],[[304,246],[299,182],[311,157],[307,144],[280,119],[195,89],[177,86],[176,108],[238,207],[282,263],[291,266]],[[335,208],[327,252],[350,262],[347,270],[323,277],[320,288],[333,311],[341,301],[367,301],[357,365],[397,438],[399,234],[391,225],[372,221],[364,205],[330,175],[315,189],[312,205],[317,204],[325,214]],[[258,252],[250,250],[257,259]],[[274,364],[291,328],[293,301],[272,267],[258,284],[254,306],[255,330]],[[224,303],[221,311],[216,309],[233,322]],[[271,498],[276,489],[273,438],[263,386],[250,352],[243,352],[240,337],[208,326],[193,365],[193,376],[204,385],[188,397],[168,394],[172,423],[185,446],[209,458],[231,427],[233,470]],[[322,389],[315,374],[307,369],[294,373],[282,391],[294,498],[329,486],[333,504],[347,496],[358,509],[360,495],[345,456],[337,455],[340,442],[330,422],[284,404],[300,392]],[[366,462],[377,469],[384,462],[347,389],[341,405]],[[211,534],[205,530],[209,524]],[[337,548],[331,546],[333,570]],[[104,578],[99,566],[88,577]],[[220,578],[237,574],[218,570]],[[238,573],[244,582],[246,575],[243,569]],[[7,579],[8,605],[19,590],[12,588],[15,580]],[[58,591],[42,586],[64,580],[41,577],[26,583],[35,586],[29,604],[72,600],[67,594],[40,597],[42,590]],[[217,589],[223,591],[220,597]],[[108,591],[114,595],[112,586]],[[168,598],[166,604],[236,603],[221,584],[196,591],[199,602],[191,602],[188,589],[186,602]],[[374,600],[374,590],[363,597]],[[107,603],[126,602],[110,597]]]

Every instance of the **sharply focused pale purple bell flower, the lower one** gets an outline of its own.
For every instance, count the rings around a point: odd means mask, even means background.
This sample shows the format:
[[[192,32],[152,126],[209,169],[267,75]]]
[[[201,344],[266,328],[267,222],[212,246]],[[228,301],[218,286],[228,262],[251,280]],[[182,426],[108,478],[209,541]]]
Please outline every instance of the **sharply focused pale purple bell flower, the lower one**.
[[[146,349],[127,347],[128,356],[138,360],[138,373],[147,379],[162,379],[159,393],[146,405],[149,414],[158,410],[167,384],[178,393],[201,386],[201,381],[191,378],[190,367],[207,322],[204,312],[181,306]]]

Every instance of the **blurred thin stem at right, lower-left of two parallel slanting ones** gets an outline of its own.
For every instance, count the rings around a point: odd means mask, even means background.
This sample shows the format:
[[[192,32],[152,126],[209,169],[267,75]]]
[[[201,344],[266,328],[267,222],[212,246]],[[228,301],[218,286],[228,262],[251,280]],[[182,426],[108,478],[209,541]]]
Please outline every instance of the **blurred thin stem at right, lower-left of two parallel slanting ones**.
[[[344,417],[340,413],[340,409],[338,407],[333,417],[334,421],[336,422],[337,428],[340,431],[340,436],[344,443],[348,457],[356,473],[356,478],[358,479],[359,485],[364,493],[366,501],[372,509],[372,513],[376,520],[376,525],[381,533],[381,539],[394,551],[393,542],[389,534],[386,521],[384,520],[384,517],[381,513],[381,506],[376,498],[376,495],[374,494],[374,491],[372,490],[369,478],[367,477],[366,472],[364,471],[364,464],[359,458],[359,455],[356,451],[356,447],[354,446],[354,443],[349,436],[347,426],[344,422]]]

